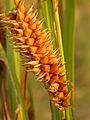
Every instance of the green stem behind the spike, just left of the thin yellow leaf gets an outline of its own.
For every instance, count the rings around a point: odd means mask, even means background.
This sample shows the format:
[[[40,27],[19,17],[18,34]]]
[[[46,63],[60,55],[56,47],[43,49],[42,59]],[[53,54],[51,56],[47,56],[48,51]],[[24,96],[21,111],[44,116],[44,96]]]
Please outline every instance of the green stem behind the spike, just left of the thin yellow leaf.
[[[45,8],[43,8],[43,7],[45,7]],[[52,11],[50,11],[50,10],[52,10],[50,0],[42,1],[42,10],[44,10],[44,12],[45,12],[44,17],[45,17],[46,23],[47,23],[45,27],[48,27],[48,29],[51,30],[51,36],[50,36],[50,39],[51,39],[51,38],[53,38],[52,33],[54,33],[54,30],[52,27],[53,26],[53,17],[51,14]],[[50,19],[50,14],[51,14],[52,19]],[[54,42],[54,46],[55,46],[55,42]],[[59,112],[57,111],[57,108],[51,103],[51,101],[50,101],[50,109],[51,109],[51,114],[52,114],[52,120],[57,120],[59,118]]]

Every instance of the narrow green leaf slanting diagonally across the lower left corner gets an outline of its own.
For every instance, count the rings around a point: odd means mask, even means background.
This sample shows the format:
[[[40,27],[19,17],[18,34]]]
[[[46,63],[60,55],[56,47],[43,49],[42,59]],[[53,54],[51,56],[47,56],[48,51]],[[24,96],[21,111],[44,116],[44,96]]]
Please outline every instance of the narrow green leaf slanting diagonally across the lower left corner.
[[[21,91],[20,84],[17,80],[17,76],[16,76],[15,72],[12,70],[12,67],[10,67],[10,61],[8,60],[7,55],[4,51],[4,49],[2,48],[1,44],[0,44],[0,55],[6,63],[6,67],[9,71],[10,76],[11,76],[12,82],[15,84],[15,88],[16,88],[16,91],[17,91],[17,94],[18,94],[18,97],[19,97],[19,100],[20,100],[21,107],[22,107],[23,119],[28,120],[28,115],[27,115],[27,112],[26,112],[26,108],[25,108],[24,99],[23,99],[23,96],[22,96],[22,91]]]

